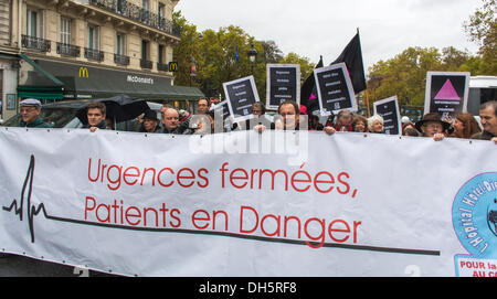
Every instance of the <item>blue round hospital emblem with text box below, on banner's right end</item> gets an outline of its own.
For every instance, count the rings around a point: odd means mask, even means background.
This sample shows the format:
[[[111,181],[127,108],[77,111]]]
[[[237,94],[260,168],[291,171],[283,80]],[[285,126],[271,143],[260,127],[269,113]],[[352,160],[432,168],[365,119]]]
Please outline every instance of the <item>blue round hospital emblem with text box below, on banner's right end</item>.
[[[497,172],[482,173],[457,192],[454,231],[469,255],[457,255],[457,276],[497,277]]]

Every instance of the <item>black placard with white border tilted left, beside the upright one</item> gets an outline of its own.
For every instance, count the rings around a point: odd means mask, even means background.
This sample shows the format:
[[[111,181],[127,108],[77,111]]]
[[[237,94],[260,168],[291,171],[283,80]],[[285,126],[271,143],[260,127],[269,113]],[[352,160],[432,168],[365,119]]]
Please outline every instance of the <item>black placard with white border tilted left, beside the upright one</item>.
[[[260,102],[253,76],[223,83],[228,107],[234,122],[253,117],[252,105]]]

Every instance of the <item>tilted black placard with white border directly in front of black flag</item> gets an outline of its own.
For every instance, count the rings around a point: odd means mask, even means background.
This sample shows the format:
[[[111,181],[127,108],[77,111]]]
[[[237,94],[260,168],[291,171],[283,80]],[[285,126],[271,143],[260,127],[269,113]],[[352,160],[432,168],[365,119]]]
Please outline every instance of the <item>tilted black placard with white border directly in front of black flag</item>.
[[[321,115],[329,116],[339,110],[357,111],[357,100],[345,63],[314,71]]]

